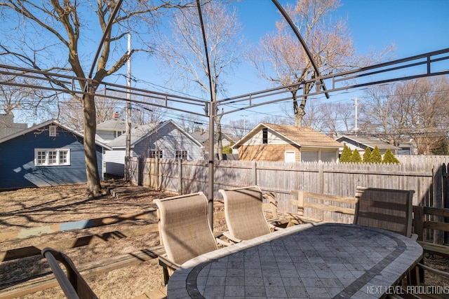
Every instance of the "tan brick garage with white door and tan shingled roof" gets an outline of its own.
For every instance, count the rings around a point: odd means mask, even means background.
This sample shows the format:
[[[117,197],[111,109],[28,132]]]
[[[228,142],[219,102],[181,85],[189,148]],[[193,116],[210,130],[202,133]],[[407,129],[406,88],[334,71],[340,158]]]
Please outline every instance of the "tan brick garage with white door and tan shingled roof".
[[[341,146],[311,127],[260,123],[232,148],[239,160],[335,162]]]

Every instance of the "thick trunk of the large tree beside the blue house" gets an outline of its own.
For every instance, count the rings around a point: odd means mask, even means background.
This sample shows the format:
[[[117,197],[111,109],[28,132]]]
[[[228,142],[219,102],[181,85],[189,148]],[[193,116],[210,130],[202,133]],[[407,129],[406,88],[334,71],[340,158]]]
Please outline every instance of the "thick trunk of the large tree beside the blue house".
[[[84,113],[84,151],[86,160],[87,191],[90,195],[100,194],[100,174],[98,173],[97,151],[95,145],[95,97],[86,95],[83,102]]]

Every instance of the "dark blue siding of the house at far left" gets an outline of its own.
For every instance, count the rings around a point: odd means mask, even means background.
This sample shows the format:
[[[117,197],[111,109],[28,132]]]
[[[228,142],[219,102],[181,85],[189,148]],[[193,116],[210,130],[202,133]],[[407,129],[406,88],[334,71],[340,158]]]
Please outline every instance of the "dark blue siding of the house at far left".
[[[0,144],[0,189],[86,183],[83,140],[58,127],[56,137],[35,130]],[[35,148],[69,148],[70,165],[34,166]],[[97,146],[98,172],[102,174],[102,148]]]

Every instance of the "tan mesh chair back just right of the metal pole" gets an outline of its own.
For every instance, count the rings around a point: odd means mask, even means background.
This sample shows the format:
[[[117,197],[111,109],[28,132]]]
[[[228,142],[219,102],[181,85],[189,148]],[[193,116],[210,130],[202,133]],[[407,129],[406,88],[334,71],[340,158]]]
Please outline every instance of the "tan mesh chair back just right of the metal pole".
[[[218,192],[225,200],[225,218],[232,237],[247,240],[270,232],[259,187],[220,189]]]

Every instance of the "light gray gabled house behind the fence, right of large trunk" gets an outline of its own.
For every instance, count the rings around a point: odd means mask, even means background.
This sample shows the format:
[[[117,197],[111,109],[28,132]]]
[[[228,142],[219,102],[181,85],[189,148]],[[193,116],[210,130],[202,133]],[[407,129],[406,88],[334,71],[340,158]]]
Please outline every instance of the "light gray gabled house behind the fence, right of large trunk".
[[[107,141],[107,145],[112,150],[105,152],[106,173],[124,176],[126,134]],[[201,143],[173,120],[131,127],[131,157],[194,160],[201,159],[202,152]]]

